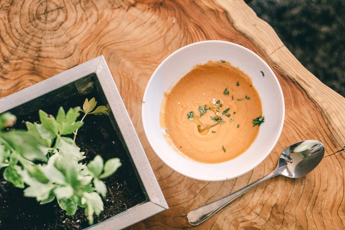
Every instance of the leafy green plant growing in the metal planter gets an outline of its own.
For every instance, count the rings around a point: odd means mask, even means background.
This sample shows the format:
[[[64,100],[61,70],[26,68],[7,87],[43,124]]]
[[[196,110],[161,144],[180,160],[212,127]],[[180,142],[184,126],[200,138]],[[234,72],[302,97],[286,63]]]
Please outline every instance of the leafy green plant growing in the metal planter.
[[[118,158],[105,163],[96,156],[88,164],[80,161],[84,152],[68,137],[82,125],[87,114],[108,115],[105,106],[95,110],[95,98],[87,99],[80,107],[65,113],[61,107],[55,117],[39,110],[40,124],[26,122],[26,130],[6,130],[16,123],[11,113],[0,114],[0,168],[3,177],[14,186],[24,189],[24,196],[34,197],[40,204],[57,199],[59,206],[72,216],[78,206],[85,208],[89,224],[93,214],[103,210],[107,186],[102,179],[121,166]],[[93,111],[92,111],[93,110]],[[79,111],[84,113],[81,121]]]

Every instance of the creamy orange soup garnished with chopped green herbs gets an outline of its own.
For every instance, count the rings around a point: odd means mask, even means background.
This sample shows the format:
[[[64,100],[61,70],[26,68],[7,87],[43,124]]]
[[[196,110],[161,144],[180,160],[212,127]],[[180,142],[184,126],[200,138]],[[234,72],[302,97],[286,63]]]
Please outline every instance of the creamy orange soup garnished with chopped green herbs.
[[[187,73],[165,95],[160,114],[167,141],[203,163],[228,161],[245,152],[263,122],[252,80],[225,61],[209,61]]]

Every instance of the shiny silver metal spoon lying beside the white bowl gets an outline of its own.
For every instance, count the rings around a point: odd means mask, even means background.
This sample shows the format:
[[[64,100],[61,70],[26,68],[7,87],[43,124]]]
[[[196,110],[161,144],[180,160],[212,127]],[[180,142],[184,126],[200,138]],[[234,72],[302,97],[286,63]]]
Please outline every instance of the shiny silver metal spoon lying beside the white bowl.
[[[187,215],[188,222],[193,226],[204,222],[219,209],[223,208],[249,189],[257,186],[259,183],[264,182],[269,178],[278,175],[289,178],[299,178],[305,176],[320,163],[324,156],[324,152],[325,149],[323,144],[314,140],[301,141],[287,147],[282,154],[280,154],[277,168],[273,170],[273,172],[224,198],[189,212]]]

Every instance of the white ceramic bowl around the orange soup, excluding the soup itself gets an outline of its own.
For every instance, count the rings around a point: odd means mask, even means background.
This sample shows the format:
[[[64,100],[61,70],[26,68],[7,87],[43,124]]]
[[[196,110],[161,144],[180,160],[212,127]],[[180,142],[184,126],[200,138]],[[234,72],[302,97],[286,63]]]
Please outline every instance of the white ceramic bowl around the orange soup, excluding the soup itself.
[[[209,60],[225,60],[239,67],[250,78],[262,101],[265,123],[260,126],[253,144],[240,156],[217,164],[191,160],[173,150],[163,137],[159,124],[163,93],[196,64]],[[265,77],[260,71],[263,71]],[[257,54],[247,48],[226,41],[201,41],[182,47],[170,54],[152,74],[142,103],[142,123],[146,137],[158,157],[175,171],[197,180],[219,181],[238,177],[262,162],[276,145],[284,123],[284,98],[272,69]]]

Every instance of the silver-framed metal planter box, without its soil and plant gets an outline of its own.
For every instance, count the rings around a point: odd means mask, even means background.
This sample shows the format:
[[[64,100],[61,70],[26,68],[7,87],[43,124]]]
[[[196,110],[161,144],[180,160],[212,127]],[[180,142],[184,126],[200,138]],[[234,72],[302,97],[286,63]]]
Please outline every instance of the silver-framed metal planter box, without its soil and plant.
[[[86,229],[123,229],[168,209],[168,205],[103,56],[0,99],[0,113],[8,110],[15,114],[28,113],[43,104],[71,97],[73,93],[85,94],[90,87],[96,88],[100,99],[109,104],[110,120],[119,137],[122,137],[122,144],[128,150],[147,199]]]

